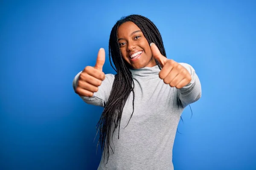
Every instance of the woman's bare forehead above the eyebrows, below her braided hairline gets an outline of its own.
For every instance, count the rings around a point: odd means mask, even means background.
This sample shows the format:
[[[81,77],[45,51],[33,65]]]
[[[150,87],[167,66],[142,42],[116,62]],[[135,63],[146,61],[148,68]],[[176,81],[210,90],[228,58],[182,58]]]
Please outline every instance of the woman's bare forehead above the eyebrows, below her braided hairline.
[[[141,31],[140,28],[131,21],[127,21],[118,27],[117,37],[128,37],[134,31]]]

